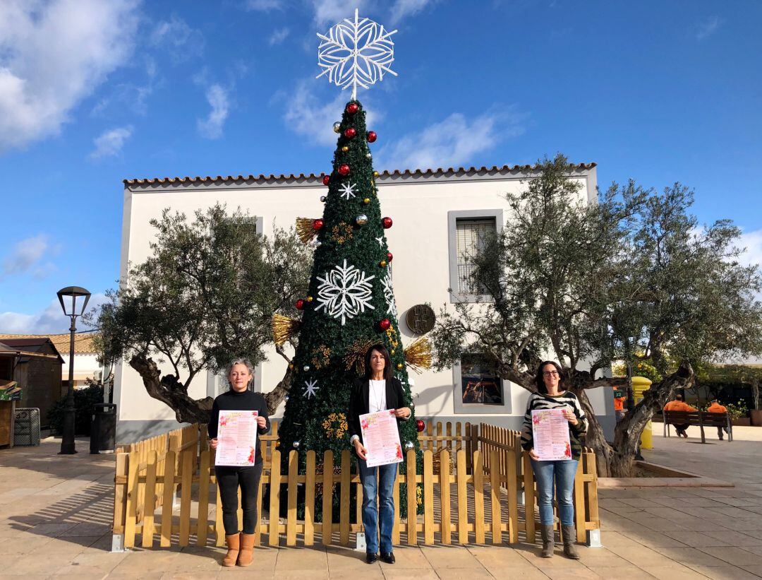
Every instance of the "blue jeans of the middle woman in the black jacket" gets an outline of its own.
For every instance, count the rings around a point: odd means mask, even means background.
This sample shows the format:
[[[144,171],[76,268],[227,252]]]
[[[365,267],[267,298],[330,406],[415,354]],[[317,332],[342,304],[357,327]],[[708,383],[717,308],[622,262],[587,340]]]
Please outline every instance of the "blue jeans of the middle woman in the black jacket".
[[[369,554],[378,553],[379,527],[381,529],[381,553],[392,551],[392,527],[394,526],[394,481],[397,478],[399,464],[389,466],[368,467],[358,458],[360,481],[363,482],[363,526],[365,526],[366,551]],[[376,482],[376,472],[379,481]],[[378,495],[381,503],[379,510]],[[380,515],[380,517],[379,517]]]

